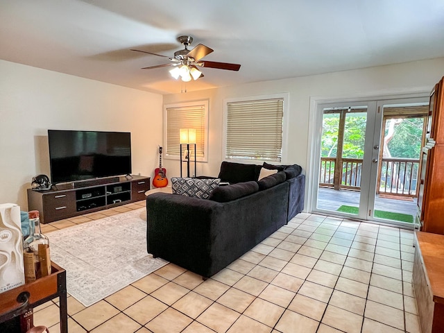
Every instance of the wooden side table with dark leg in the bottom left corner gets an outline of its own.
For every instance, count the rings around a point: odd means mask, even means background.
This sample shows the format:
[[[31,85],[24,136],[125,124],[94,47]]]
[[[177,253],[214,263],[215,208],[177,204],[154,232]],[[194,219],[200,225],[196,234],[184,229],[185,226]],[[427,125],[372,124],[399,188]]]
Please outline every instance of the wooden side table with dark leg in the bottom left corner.
[[[51,262],[51,267],[51,275],[0,294],[0,323],[23,314],[26,311],[26,305],[34,308],[49,300],[59,298],[60,332],[68,332],[66,271],[53,262]]]

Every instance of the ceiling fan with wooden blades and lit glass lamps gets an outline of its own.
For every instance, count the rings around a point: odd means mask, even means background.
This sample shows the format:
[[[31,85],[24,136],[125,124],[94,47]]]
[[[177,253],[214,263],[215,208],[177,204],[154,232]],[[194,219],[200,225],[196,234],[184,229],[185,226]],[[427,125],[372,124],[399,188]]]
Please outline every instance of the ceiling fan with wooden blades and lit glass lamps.
[[[239,64],[230,64],[228,62],[215,62],[215,61],[207,61],[201,60],[208,54],[214,51],[210,49],[210,47],[205,46],[203,44],[198,44],[198,46],[194,47],[194,49],[189,50],[188,46],[193,42],[193,37],[190,36],[180,36],[177,40],[185,46],[185,49],[174,52],[174,57],[163,56],[162,54],[151,53],[147,51],[135,50],[142,53],[148,53],[153,56],[159,56],[168,58],[171,62],[169,64],[156,65],[151,67],[143,67],[142,69],[153,69],[159,67],[168,67],[173,66],[169,72],[173,78],[181,78],[182,81],[188,82],[191,79],[197,80],[198,78],[203,77],[202,71],[198,69],[198,67],[208,67],[208,68],[216,68],[216,69],[228,69],[229,71],[239,71],[241,65]]]

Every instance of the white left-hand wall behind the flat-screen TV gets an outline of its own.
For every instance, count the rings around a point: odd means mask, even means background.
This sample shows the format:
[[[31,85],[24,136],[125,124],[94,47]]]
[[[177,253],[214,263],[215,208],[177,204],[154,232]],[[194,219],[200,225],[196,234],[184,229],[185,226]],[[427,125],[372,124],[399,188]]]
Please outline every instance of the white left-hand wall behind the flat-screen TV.
[[[27,210],[33,176],[49,176],[48,129],[131,132],[133,173],[153,176],[162,95],[0,60],[0,203]]]

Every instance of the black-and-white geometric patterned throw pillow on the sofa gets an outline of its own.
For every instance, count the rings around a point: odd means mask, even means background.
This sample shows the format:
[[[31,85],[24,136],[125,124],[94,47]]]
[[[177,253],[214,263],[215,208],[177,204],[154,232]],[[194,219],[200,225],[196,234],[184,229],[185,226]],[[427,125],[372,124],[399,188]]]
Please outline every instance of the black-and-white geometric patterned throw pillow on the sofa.
[[[171,177],[173,194],[191,196],[194,198],[207,199],[213,189],[219,187],[220,178],[198,179]]]

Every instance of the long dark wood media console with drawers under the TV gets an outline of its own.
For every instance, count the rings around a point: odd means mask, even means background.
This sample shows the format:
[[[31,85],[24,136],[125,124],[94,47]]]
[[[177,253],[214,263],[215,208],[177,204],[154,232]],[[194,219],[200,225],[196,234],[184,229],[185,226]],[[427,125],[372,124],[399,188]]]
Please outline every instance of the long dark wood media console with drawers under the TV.
[[[111,207],[145,200],[150,178],[111,178],[110,183],[75,187],[74,183],[57,185],[48,191],[28,189],[28,210],[40,212],[40,222],[49,223]]]

